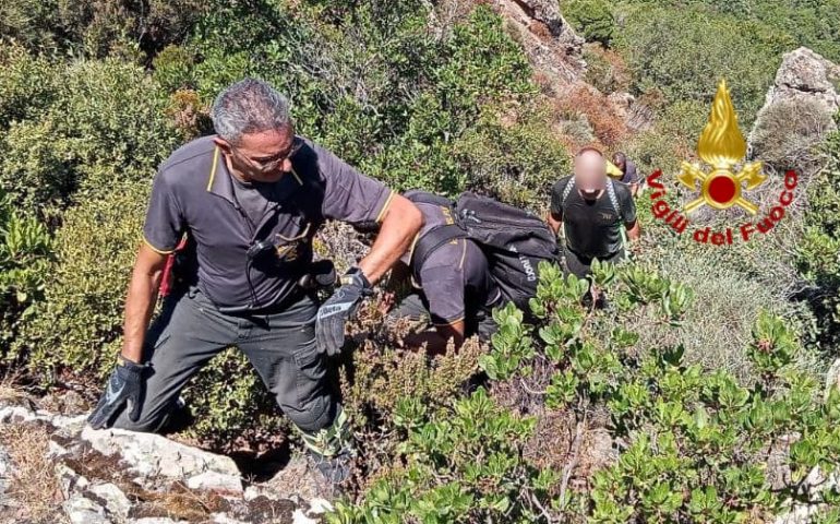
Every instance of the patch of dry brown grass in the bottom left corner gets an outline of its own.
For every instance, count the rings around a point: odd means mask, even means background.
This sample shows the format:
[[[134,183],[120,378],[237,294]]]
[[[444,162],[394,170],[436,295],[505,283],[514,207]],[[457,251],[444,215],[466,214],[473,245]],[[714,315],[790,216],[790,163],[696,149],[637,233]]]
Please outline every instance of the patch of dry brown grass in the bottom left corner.
[[[61,523],[61,489],[47,458],[49,433],[43,426],[0,427],[0,443],[12,458],[8,496],[13,501],[0,508],[0,522]]]

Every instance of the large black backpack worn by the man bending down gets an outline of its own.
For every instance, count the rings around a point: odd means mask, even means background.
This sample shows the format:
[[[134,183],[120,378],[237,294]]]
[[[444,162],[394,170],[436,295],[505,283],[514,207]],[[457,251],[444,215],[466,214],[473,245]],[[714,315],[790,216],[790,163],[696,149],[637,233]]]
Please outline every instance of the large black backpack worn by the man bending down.
[[[506,300],[525,311],[537,295],[539,263],[559,262],[557,241],[549,226],[527,211],[477,194],[456,202],[422,191],[406,194],[412,202],[449,209],[454,224],[434,227],[420,237],[411,254],[415,278],[432,252],[456,238],[475,241],[488,259],[490,276]]]

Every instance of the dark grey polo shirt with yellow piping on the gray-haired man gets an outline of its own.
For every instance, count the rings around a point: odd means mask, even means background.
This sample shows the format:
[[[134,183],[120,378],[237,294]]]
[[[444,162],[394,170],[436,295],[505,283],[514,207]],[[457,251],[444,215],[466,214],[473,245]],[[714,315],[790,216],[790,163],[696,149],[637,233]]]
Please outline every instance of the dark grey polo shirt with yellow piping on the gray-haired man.
[[[326,219],[380,222],[391,203],[394,193],[383,183],[323,147],[297,140],[303,144],[291,158],[292,172],[276,182],[276,200],[267,201],[256,227],[237,202],[233,179],[213,136],[176,151],[155,177],[144,239],[155,251],[169,253],[189,233],[196,242],[199,288],[216,306],[279,303],[312,261],[312,238]],[[249,262],[249,248],[264,239],[276,250]]]

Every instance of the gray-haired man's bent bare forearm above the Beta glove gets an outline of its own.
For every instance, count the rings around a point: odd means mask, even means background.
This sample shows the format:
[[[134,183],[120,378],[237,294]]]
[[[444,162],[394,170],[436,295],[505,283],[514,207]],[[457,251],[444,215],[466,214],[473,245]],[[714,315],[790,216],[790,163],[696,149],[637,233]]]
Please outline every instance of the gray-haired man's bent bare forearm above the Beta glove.
[[[371,284],[382,276],[408,251],[423,218],[420,211],[403,196],[395,196],[392,209],[382,223],[371,251],[359,262],[359,267]]]

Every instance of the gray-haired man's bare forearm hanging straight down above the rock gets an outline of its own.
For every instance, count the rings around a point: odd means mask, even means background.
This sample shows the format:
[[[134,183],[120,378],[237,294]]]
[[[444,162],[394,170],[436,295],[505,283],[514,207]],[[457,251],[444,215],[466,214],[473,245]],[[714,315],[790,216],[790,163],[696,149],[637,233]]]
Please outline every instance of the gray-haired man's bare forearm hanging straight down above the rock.
[[[134,362],[143,361],[143,342],[157,301],[160,271],[134,270],[125,299],[122,356]]]

